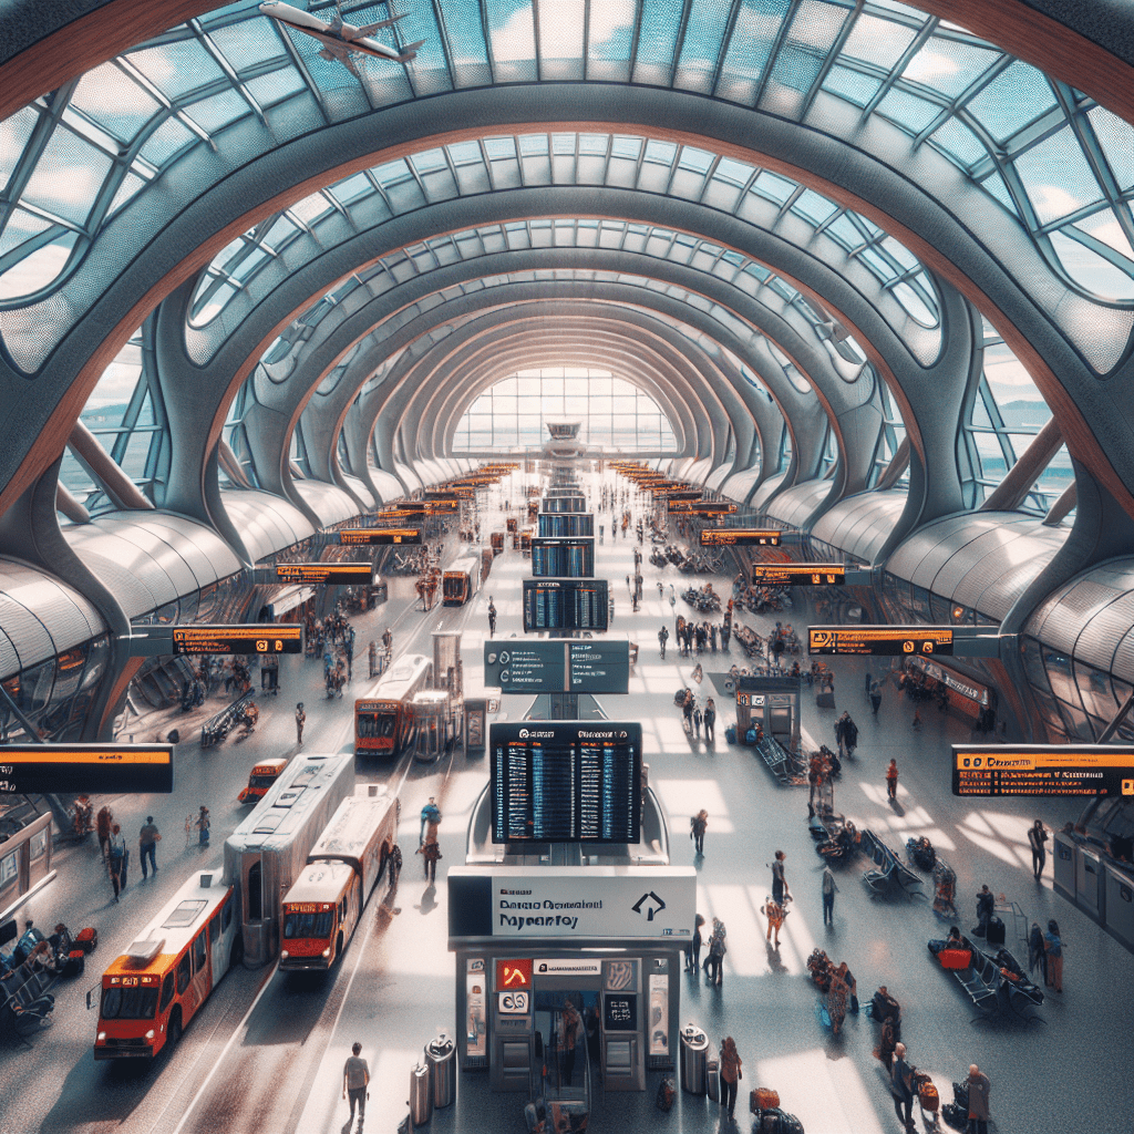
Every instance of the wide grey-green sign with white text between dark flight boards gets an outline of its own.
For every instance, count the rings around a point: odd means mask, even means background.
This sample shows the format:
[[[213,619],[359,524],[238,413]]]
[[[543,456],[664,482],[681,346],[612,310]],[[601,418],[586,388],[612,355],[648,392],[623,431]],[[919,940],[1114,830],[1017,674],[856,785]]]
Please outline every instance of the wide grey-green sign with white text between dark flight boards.
[[[629,679],[627,641],[484,643],[484,684],[505,693],[626,693]]]

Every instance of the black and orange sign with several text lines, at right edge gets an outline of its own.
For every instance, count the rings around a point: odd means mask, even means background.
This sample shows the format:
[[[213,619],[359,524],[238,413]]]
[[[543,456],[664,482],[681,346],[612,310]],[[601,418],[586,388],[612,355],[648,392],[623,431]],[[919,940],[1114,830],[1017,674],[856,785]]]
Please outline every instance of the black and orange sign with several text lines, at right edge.
[[[954,795],[1134,799],[1134,748],[1109,744],[953,746]]]

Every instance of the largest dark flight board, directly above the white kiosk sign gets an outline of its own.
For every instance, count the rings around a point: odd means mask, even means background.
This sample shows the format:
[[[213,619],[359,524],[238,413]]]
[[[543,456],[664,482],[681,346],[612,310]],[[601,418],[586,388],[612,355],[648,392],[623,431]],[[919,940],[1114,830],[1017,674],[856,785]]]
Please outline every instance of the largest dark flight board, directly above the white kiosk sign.
[[[641,725],[491,725],[489,751],[493,843],[641,839]]]

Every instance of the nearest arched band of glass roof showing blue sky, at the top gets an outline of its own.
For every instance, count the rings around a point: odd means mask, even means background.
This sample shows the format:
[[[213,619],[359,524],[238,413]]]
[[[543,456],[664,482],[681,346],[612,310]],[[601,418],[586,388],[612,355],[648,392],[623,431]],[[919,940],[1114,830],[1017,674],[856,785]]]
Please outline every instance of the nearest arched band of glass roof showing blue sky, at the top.
[[[388,5],[352,9],[362,22]],[[330,0],[311,2],[330,18]],[[424,40],[358,82],[242,0],[0,122],[0,303],[58,280],[117,210],[240,124],[279,136],[479,86],[635,83],[793,120],[831,95],[945,154],[1074,286],[1134,299],[1134,130],[964,29],[892,0],[408,0],[380,34]],[[822,128],[819,121],[809,126]],[[235,136],[235,134],[234,134]],[[239,144],[239,143],[236,143]],[[474,143],[475,144],[475,143]],[[223,287],[219,289],[222,297]]]

